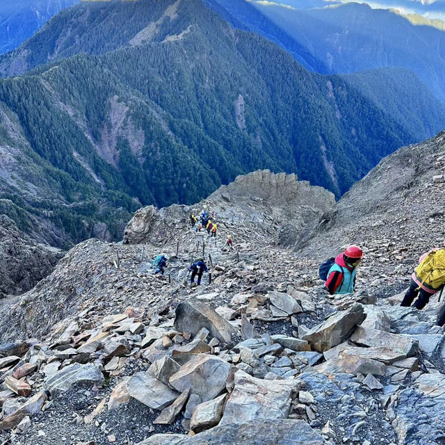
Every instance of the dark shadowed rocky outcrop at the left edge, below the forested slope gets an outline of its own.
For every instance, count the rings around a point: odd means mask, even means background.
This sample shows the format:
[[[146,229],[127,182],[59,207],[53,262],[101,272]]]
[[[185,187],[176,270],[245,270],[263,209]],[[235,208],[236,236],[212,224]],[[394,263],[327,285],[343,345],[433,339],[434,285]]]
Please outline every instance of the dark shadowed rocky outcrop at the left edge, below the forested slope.
[[[0,215],[0,298],[32,289],[62,256],[59,249],[38,244],[8,216]]]

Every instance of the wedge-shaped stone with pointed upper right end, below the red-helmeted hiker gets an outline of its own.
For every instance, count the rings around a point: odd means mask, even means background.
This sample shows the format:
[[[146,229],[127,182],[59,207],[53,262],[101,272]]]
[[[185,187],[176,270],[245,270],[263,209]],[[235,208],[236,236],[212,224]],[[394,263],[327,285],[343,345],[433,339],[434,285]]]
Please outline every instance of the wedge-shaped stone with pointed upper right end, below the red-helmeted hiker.
[[[357,303],[347,311],[336,312],[324,323],[313,327],[302,339],[308,341],[315,350],[324,353],[348,339],[355,325],[362,323],[364,317],[363,306]]]

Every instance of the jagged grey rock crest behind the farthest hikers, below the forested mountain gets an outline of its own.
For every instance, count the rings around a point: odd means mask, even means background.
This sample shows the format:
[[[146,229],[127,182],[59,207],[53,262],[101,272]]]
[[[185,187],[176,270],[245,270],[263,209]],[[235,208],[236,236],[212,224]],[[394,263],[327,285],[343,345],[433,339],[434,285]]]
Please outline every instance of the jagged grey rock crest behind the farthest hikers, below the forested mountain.
[[[172,205],[160,211],[152,206],[139,209],[124,232],[124,243],[164,243],[177,238],[190,213],[203,206],[212,209],[224,223],[249,225],[282,245],[295,243],[335,203],[322,187],[298,181],[296,175],[257,170],[221,186],[204,203],[192,207]]]

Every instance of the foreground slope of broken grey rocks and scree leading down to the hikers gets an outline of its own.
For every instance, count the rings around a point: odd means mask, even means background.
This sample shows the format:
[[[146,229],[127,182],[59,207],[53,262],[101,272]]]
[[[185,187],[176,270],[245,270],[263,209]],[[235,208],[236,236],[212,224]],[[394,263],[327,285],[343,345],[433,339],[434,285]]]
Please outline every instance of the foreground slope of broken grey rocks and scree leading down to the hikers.
[[[223,202],[208,203],[217,209],[216,241],[186,227],[192,209],[165,209],[168,220],[156,225],[148,207],[155,229],[145,225],[144,243],[131,243],[141,233],[135,221],[127,244],[81,243],[20,298],[20,309],[6,309],[10,324],[19,320],[35,337],[16,325],[13,338],[1,323],[3,339],[14,340],[0,347],[3,442],[442,442],[445,350],[434,311],[398,307],[400,295],[376,298],[366,275],[360,287],[369,292],[331,298],[313,259],[277,245],[278,225],[225,219],[223,205],[236,206],[230,189],[220,191]],[[278,211],[267,200],[259,209],[266,217]],[[189,259],[202,241],[211,284],[206,275],[191,288]],[[150,273],[161,249],[171,255],[170,279]]]

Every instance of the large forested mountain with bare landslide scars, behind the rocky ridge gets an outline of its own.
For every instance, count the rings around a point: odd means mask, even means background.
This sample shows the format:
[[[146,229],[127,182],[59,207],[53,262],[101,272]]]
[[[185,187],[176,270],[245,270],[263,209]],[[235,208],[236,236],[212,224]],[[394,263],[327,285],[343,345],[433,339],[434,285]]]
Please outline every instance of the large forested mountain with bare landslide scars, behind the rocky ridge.
[[[196,202],[258,168],[340,196],[445,120],[405,70],[308,72],[200,0],[81,2],[0,66],[14,74],[0,81],[0,210],[58,245],[119,238],[140,204]]]

